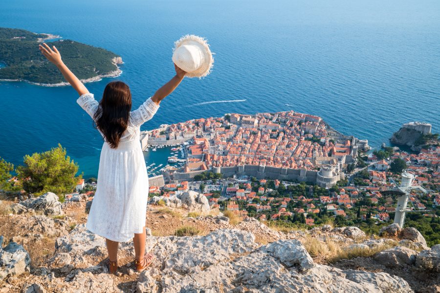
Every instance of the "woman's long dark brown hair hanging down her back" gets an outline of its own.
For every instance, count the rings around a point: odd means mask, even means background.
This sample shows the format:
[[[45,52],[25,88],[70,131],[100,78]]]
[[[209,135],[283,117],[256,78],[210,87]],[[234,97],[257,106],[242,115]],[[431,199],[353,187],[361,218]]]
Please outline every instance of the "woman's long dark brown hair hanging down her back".
[[[130,87],[123,82],[107,84],[93,120],[111,148],[118,147],[122,133],[127,129],[131,109]]]

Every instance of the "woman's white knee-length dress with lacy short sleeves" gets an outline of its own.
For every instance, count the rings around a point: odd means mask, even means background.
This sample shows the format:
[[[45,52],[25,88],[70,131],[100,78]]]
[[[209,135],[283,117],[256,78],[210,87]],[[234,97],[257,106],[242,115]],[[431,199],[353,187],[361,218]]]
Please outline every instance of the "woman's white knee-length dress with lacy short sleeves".
[[[93,119],[98,109],[93,94],[82,95],[77,103]],[[129,241],[134,233],[142,233],[149,188],[139,127],[150,120],[158,108],[149,98],[130,113],[129,125],[117,148],[104,142],[97,188],[87,220],[87,229],[91,232],[118,242]]]

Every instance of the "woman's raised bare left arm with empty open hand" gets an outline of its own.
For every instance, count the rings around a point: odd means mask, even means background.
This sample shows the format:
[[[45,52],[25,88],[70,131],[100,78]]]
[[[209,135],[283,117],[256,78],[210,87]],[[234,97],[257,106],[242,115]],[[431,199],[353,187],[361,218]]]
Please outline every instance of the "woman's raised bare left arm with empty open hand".
[[[61,60],[61,54],[55,46],[51,49],[46,43],[40,44],[40,51],[51,63],[55,64],[63,74],[66,81],[78,92],[80,96],[88,94],[88,89],[84,84],[70,71],[70,69]]]

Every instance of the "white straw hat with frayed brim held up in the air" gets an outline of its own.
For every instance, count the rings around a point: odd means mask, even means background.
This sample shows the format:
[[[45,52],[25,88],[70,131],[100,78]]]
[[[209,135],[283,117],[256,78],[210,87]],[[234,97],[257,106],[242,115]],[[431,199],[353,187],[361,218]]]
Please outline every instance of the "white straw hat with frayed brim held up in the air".
[[[202,78],[211,73],[214,58],[204,38],[183,36],[174,43],[173,52],[173,62],[187,72],[186,77]]]

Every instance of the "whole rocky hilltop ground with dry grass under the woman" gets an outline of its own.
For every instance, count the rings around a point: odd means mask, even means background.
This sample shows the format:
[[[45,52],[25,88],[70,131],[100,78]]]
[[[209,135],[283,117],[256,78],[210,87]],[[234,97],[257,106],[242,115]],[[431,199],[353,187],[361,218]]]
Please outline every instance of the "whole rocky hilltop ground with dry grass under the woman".
[[[85,229],[89,205],[50,193],[2,201],[0,292],[440,292],[440,246],[426,247],[415,229],[367,236],[329,225],[286,233],[253,218],[232,225],[195,194],[149,205],[153,265],[134,272],[132,243],[121,243],[110,275],[104,238]],[[195,236],[174,236],[182,227]]]

